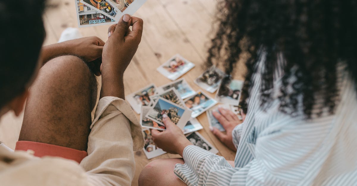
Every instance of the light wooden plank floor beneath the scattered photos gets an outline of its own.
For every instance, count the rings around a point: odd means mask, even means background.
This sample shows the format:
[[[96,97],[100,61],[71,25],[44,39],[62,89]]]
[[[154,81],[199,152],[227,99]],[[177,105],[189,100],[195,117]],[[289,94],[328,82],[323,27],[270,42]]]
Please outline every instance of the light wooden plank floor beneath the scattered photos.
[[[53,2],[52,2],[53,1]],[[47,37],[44,45],[56,43],[66,27],[77,27],[75,0],[50,1],[44,15]],[[183,77],[197,91],[193,83],[203,72],[201,64],[207,56],[211,25],[215,17],[217,0],[148,0],[135,14],[144,20],[144,33],[139,48],[125,72],[125,93],[129,94],[155,83],[156,86],[171,82],[156,68],[176,53],[196,64]],[[98,36],[107,40],[108,26],[80,28],[83,36]],[[239,74],[238,74],[239,75]],[[238,79],[242,79],[241,76]],[[213,97],[213,94],[206,92]],[[138,115],[139,118],[139,115]],[[218,155],[234,160],[235,152],[226,148],[208,129],[206,114],[197,117],[204,129],[200,134],[219,150]],[[0,120],[0,140],[14,149],[19,136],[22,117],[7,113]],[[35,130],[35,129],[34,129]],[[164,154],[155,159],[178,157]],[[141,169],[149,162],[142,151],[135,153],[136,174],[132,185],[137,185]]]

